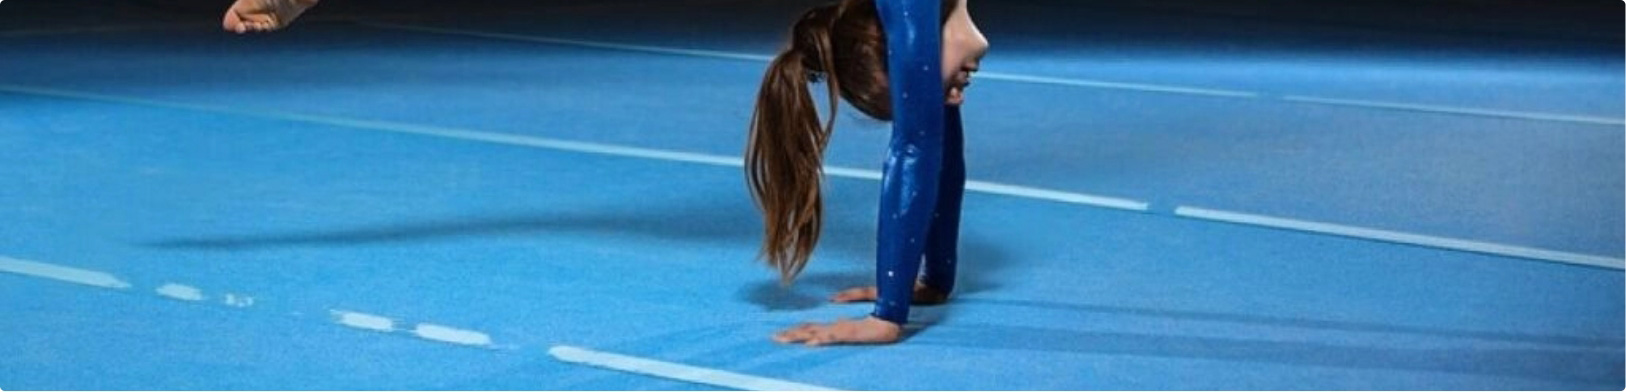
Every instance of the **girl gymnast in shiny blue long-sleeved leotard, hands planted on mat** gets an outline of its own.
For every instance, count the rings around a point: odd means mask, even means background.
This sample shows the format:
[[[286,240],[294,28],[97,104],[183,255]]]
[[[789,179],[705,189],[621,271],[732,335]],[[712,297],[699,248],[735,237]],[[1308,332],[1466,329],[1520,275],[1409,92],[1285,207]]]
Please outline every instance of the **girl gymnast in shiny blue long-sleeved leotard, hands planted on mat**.
[[[966,0],[842,0],[811,8],[795,23],[790,44],[763,76],[745,155],[766,231],[761,254],[782,283],[795,280],[818,244],[820,177],[837,96],[865,115],[891,120],[893,137],[881,179],[878,285],[831,298],[875,301],[875,312],[802,324],[774,340],[893,343],[902,337],[911,304],[948,299],[966,184],[959,104],[987,49]],[[823,124],[808,89],[815,81],[829,91]]]

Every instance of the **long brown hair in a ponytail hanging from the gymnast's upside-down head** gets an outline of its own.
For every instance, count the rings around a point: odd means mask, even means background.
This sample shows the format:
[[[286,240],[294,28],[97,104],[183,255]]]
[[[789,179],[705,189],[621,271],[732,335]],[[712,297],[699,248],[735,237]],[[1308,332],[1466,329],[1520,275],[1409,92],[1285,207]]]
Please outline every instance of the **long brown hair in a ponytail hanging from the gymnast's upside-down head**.
[[[956,0],[943,0],[946,21]],[[820,124],[808,83],[824,81],[829,111]],[[756,93],[745,172],[763,210],[761,257],[790,283],[806,267],[824,218],[824,148],[836,127],[837,96],[878,120],[893,119],[886,83],[886,34],[875,0],[815,7],[790,29]]]

